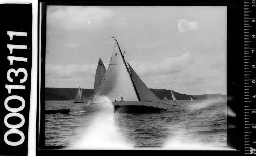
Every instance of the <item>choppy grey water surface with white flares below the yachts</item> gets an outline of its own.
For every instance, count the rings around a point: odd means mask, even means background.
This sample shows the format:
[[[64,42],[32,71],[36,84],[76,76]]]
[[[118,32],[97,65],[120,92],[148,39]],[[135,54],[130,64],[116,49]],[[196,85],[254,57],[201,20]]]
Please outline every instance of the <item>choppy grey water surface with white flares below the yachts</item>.
[[[226,149],[226,102],[165,101],[171,111],[128,114],[87,113],[83,103],[46,101],[46,109],[71,108],[70,114],[45,115],[45,145],[69,149]],[[110,106],[111,107],[111,106]]]

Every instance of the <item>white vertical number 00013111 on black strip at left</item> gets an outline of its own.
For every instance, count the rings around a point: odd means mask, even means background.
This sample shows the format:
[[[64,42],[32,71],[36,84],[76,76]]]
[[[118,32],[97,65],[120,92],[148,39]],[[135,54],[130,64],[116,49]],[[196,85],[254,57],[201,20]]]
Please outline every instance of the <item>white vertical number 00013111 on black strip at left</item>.
[[[14,31],[7,31],[7,35],[10,37],[10,40],[13,40],[14,36],[23,36],[23,37],[27,37],[27,32],[14,32]],[[14,45],[14,44],[7,44],[7,48],[9,49],[9,53],[12,54],[13,53],[13,49],[20,49],[20,50],[27,50],[27,45]],[[15,63],[15,61],[22,61],[22,62],[27,62],[28,58],[25,57],[16,57],[16,56],[7,56],[7,59],[10,62],[10,65],[13,65]],[[13,73],[13,74],[12,74]],[[24,82],[26,82],[27,78],[28,78],[28,72],[25,68],[18,68],[18,69],[14,69],[14,68],[10,68],[7,73],[6,73],[6,77],[7,80],[10,83],[13,83],[13,78],[11,76],[15,76],[18,77],[19,73],[23,73],[23,77],[22,79],[19,80],[19,84],[14,84],[14,85],[10,85],[10,84],[5,84],[5,88],[8,90],[8,94],[11,94],[12,89],[19,89],[19,90],[25,90],[25,85],[20,85]],[[10,107],[8,105],[8,102],[10,100],[19,100],[19,102],[21,102],[21,105],[17,108],[13,108]],[[23,97],[18,96],[18,95],[10,95],[8,97],[5,98],[4,101],[4,106],[5,109],[8,110],[10,113],[6,114],[4,117],[4,124],[6,127],[10,128],[8,131],[5,132],[4,134],[4,141],[6,144],[10,145],[10,146],[18,146],[21,145],[24,140],[25,140],[25,136],[24,133],[22,131],[19,130],[20,127],[22,127],[25,123],[25,118],[21,113],[18,113],[19,111],[22,111],[25,107],[25,100]],[[8,118],[10,117],[18,117],[20,118],[20,123],[18,124],[9,124],[8,123]],[[7,136],[10,134],[17,134],[20,136],[20,140],[19,141],[9,141]]]

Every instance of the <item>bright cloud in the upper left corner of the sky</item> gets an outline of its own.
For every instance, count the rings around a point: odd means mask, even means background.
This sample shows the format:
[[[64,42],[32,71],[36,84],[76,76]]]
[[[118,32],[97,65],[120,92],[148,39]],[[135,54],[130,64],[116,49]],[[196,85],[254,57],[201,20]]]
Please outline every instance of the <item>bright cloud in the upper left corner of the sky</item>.
[[[86,30],[103,27],[114,13],[109,9],[93,6],[50,6],[47,12],[49,27],[65,30]]]

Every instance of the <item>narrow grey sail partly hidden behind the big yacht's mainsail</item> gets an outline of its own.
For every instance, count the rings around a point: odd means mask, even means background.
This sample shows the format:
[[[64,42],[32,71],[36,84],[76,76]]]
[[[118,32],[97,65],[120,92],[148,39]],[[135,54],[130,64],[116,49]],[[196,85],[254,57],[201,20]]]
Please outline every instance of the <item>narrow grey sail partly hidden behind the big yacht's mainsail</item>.
[[[101,58],[99,58],[99,62],[98,62],[98,66],[97,66],[96,74],[95,74],[95,78],[94,78],[94,94],[97,93],[105,73],[106,73],[106,68],[105,68]]]

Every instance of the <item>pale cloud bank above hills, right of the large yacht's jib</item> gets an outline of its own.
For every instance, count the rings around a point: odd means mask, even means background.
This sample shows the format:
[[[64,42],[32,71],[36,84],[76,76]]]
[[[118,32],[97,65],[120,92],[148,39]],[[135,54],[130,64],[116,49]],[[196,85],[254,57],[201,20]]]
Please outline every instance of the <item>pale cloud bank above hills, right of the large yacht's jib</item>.
[[[204,60],[204,65],[201,60]],[[171,89],[192,95],[198,91],[218,93],[226,90],[226,71],[211,67],[212,62],[208,58],[198,57],[195,53],[169,57],[158,63],[132,61],[131,66],[149,88]]]

